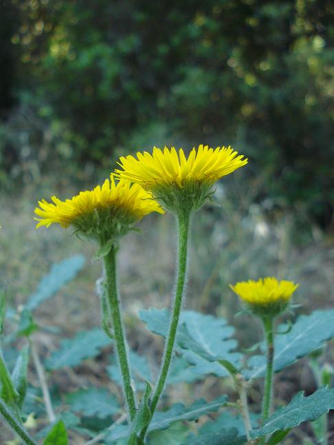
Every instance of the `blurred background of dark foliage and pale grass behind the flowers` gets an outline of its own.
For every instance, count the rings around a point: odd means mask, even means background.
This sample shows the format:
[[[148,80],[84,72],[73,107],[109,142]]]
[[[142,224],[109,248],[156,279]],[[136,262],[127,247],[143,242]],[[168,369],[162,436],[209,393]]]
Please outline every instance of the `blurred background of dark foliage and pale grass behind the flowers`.
[[[333,304],[333,1],[0,0],[0,11],[0,279],[13,304],[52,262],[94,251],[57,227],[34,231],[38,198],[96,185],[120,155],[201,143],[249,164],[194,221],[188,307],[229,318],[249,346],[258,332],[234,321],[230,282],[278,275],[301,283],[307,310]],[[131,346],[147,352],[135,317],[169,304],[174,233],[170,216],[142,229],[120,266]],[[87,266],[40,322],[98,325],[99,274]],[[56,341],[41,339],[45,354]],[[281,398],[312,385],[296,375]]]

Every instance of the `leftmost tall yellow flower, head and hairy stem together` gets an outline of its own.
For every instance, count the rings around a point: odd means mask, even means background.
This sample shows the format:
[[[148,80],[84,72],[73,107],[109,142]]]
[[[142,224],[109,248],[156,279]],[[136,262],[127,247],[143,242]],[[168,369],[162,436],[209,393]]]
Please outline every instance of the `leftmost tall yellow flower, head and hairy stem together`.
[[[100,187],[80,192],[66,201],[52,197],[52,203],[40,201],[35,209],[37,228],[58,223],[62,227],[71,225],[78,233],[98,240],[100,249],[96,259],[104,260],[105,282],[100,286],[102,328],[115,339],[118,362],[122,373],[122,384],[129,418],[136,412],[135,395],[131,386],[131,372],[127,356],[126,338],[118,297],[116,253],[119,238],[124,236],[134,223],[151,212],[164,210],[145,192],[140,185],[115,179],[106,179]],[[111,328],[112,326],[112,328]]]

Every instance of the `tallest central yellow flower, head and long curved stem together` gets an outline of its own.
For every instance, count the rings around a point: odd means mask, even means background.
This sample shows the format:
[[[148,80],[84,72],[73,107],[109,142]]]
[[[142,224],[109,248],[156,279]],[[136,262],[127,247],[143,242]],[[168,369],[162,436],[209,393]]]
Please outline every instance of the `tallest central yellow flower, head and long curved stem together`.
[[[148,152],[138,152],[137,159],[133,156],[121,157],[119,164],[123,170],[115,170],[118,178],[142,185],[146,192],[161,203],[162,207],[172,212],[176,217],[179,229],[177,279],[166,348],[157,384],[153,396],[148,402],[150,419],[140,431],[140,440],[144,440],[149,423],[157,408],[175,349],[175,338],[186,284],[188,238],[192,214],[210,196],[212,185],[218,179],[234,172],[246,163],[247,159],[243,159],[242,155],[238,156],[238,152],[230,147],[217,147],[214,150],[208,146],[200,145],[198,150],[192,149],[188,159],[182,148],[177,152],[174,147],[170,149],[165,147],[164,151],[155,147],[152,155]]]

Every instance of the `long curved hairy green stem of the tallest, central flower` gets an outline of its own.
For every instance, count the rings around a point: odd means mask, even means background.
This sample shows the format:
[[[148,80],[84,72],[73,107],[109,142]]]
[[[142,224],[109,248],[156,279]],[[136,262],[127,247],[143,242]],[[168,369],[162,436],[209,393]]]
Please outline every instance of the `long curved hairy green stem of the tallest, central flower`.
[[[182,298],[184,286],[186,284],[186,269],[187,269],[187,252],[188,252],[188,233],[190,225],[190,214],[187,212],[180,212],[177,216],[177,223],[179,225],[179,249],[178,256],[179,261],[177,264],[177,284],[175,288],[175,298],[172,305],[172,316],[170,318],[170,326],[168,330],[168,336],[166,337],[166,347],[164,352],[164,358],[162,359],[162,367],[160,368],[159,378],[157,384],[155,385],[155,390],[152,396],[150,409],[151,418],[148,424],[142,430],[140,435],[141,439],[144,440],[148,425],[150,424],[159,398],[162,395],[164,386],[166,383],[166,378],[168,376],[168,370],[170,363],[172,361],[172,355],[175,347],[175,338],[177,334],[177,327],[179,325],[179,317],[182,308]]]

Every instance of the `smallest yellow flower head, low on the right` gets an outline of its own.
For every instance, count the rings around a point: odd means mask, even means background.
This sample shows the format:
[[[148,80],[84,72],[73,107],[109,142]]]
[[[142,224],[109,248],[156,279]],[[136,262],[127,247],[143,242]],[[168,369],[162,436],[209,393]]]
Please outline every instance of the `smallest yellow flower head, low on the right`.
[[[274,277],[249,279],[236,283],[230,288],[240,297],[247,307],[257,315],[278,315],[285,310],[298,284]]]

